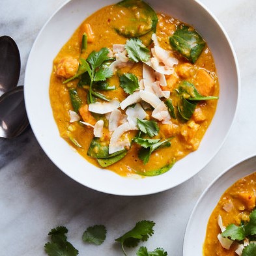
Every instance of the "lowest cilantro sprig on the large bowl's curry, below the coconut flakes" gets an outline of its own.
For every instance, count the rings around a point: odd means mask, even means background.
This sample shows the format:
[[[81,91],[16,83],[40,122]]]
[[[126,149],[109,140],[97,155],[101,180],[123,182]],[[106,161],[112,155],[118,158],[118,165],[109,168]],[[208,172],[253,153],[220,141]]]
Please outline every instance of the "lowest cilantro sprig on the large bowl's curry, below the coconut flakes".
[[[152,152],[156,149],[160,149],[162,147],[170,147],[171,143],[169,142],[171,138],[165,139],[164,141],[157,141],[156,143],[151,143],[152,139],[135,139],[134,141],[143,146],[141,150],[139,150],[139,159],[143,161],[143,164],[147,164],[149,162],[150,155]],[[146,144],[148,143],[148,144]],[[145,145],[148,145],[148,147],[145,147]]]

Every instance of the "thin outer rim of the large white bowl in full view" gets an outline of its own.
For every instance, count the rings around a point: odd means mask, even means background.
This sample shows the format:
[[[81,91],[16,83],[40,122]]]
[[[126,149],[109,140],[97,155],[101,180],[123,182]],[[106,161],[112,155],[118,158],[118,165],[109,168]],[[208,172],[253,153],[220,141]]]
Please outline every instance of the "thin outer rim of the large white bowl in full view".
[[[236,118],[236,114],[237,114],[237,109],[238,109],[238,104],[239,104],[239,98],[240,98],[240,71],[238,68],[238,60],[236,57],[236,53],[235,50],[233,48],[233,44],[231,43],[231,40],[229,39],[229,36],[227,35],[227,32],[225,31],[225,29],[223,28],[223,26],[221,25],[220,21],[218,21],[218,19],[214,16],[214,14],[212,14],[212,12],[210,12],[210,10],[208,10],[207,7],[205,7],[205,5],[203,5],[201,2],[199,2],[198,0],[189,0],[190,2],[195,2],[197,5],[199,5],[199,7],[203,8],[204,12],[208,13],[210,15],[210,18],[212,18],[214,20],[214,22],[216,23],[216,25],[218,25],[218,27],[220,27],[221,33],[223,33],[223,36],[225,37],[225,40],[227,40],[227,43],[229,45],[229,48],[231,50],[232,56],[233,56],[233,60],[234,60],[234,64],[235,64],[235,71],[236,71],[236,82],[237,82],[237,96],[236,96],[236,106],[235,106],[235,111],[233,113],[233,119],[231,121],[231,124],[229,125],[229,128],[227,129],[227,132],[225,133],[225,136],[223,136],[223,139],[220,143],[220,145],[218,145],[218,147],[216,147],[215,152],[212,154],[211,158],[206,161],[205,165],[203,167],[200,167],[199,170],[197,170],[196,173],[193,173],[190,177],[186,177],[183,178],[181,182],[178,182],[177,184],[172,184],[171,186],[164,186],[164,187],[160,187],[160,188],[154,188],[151,190],[135,190],[135,191],[117,191],[117,190],[109,190],[109,188],[99,188],[98,186],[95,186],[95,184],[88,184],[88,182],[84,182],[84,180],[79,180],[78,177],[74,177],[74,175],[70,174],[68,171],[64,170],[61,166],[60,163],[57,162],[55,159],[52,158],[52,156],[50,155],[50,152],[48,152],[48,148],[44,145],[44,143],[42,143],[40,136],[38,135],[38,131],[36,130],[34,123],[33,123],[33,118],[31,117],[31,111],[29,109],[29,94],[28,94],[28,85],[27,85],[27,78],[28,78],[28,70],[29,70],[29,64],[31,62],[31,54],[33,54],[33,51],[35,50],[36,47],[36,43],[38,42],[40,36],[42,35],[44,29],[47,27],[47,25],[50,23],[50,21],[53,19],[53,17],[66,5],[68,5],[69,3],[71,3],[72,1],[77,1],[77,0],[67,0],[65,1],[62,5],[60,5],[59,8],[57,8],[57,10],[55,10],[55,12],[53,12],[53,14],[50,16],[50,18],[48,19],[48,21],[46,21],[46,23],[44,23],[44,26],[42,27],[42,29],[40,29],[40,32],[38,33],[38,35],[36,36],[35,42],[33,43],[33,46],[31,48],[31,51],[29,53],[29,57],[27,59],[27,64],[26,64],[26,68],[25,68],[25,78],[24,78],[24,96],[25,96],[25,106],[27,109],[27,114],[28,114],[28,118],[29,118],[29,122],[31,124],[31,128],[33,130],[33,133],[35,134],[35,137],[38,141],[38,143],[40,144],[40,147],[42,147],[42,149],[44,150],[44,152],[46,153],[46,155],[50,158],[51,162],[53,162],[53,164],[55,164],[59,169],[61,169],[61,171],[63,171],[66,175],[68,175],[68,177],[72,178],[73,180],[76,180],[76,182],[79,182],[80,184],[83,184],[83,186],[87,186],[88,188],[91,188],[93,190],[97,190],[99,192],[104,192],[104,193],[109,193],[109,194],[113,194],[113,195],[128,195],[128,196],[134,196],[134,195],[149,195],[152,193],[158,193],[158,192],[163,192],[165,190],[169,190],[170,188],[174,188],[175,186],[178,186],[179,184],[185,182],[186,180],[188,180],[189,178],[192,178],[195,174],[199,173],[199,171],[201,171],[203,168],[205,168],[209,162],[212,160],[212,158],[214,158],[214,156],[217,154],[217,152],[221,149],[223,143],[225,142],[225,140],[227,139],[227,136],[229,135],[229,132],[235,122],[235,118]],[[187,157],[187,156],[186,156]],[[86,160],[87,161],[87,160]],[[98,168],[98,167],[96,167]],[[100,168],[98,168],[100,169]],[[109,170],[108,170],[109,171]],[[109,171],[111,172],[111,171]],[[116,174],[115,174],[116,175]],[[162,175],[161,175],[162,176]],[[122,177],[123,178],[123,177]],[[153,177],[146,177],[146,178],[153,178]],[[86,184],[85,184],[86,183]]]

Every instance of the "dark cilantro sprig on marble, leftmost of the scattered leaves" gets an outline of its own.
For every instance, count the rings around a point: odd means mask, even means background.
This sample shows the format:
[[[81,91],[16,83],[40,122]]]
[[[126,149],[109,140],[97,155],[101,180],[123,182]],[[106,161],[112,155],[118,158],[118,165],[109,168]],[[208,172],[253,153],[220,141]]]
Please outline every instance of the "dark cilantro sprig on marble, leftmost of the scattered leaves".
[[[66,233],[68,233],[68,229],[63,226],[51,229],[50,233],[48,233],[51,236],[51,242],[46,243],[44,249],[49,256],[78,255],[78,250],[66,240]]]

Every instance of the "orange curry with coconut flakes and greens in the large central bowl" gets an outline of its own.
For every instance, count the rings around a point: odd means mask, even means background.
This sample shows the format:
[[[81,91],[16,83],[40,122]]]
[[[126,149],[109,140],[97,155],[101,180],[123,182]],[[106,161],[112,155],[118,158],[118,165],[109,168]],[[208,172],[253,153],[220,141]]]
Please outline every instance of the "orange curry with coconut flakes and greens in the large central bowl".
[[[122,176],[162,174],[197,150],[218,104],[206,42],[190,25],[162,13],[152,18],[153,12],[139,0],[104,7],[81,23],[53,61],[50,101],[61,137],[87,161]],[[175,48],[182,33],[198,41],[196,59],[187,54],[194,49]],[[103,48],[107,58],[90,78],[88,58]],[[142,60],[134,61],[137,51]],[[125,104],[131,95],[135,100]]]

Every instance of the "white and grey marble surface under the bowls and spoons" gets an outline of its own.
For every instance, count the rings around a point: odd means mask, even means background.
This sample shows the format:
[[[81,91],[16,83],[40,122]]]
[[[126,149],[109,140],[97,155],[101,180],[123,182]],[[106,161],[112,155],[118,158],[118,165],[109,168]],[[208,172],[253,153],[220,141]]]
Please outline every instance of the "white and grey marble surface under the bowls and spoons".
[[[52,164],[30,128],[12,140],[0,139],[0,255],[43,256],[48,231],[65,225],[68,239],[79,255],[122,255],[114,239],[136,221],[154,220],[150,250],[165,248],[182,255],[186,223],[206,186],[227,167],[256,153],[256,1],[201,0],[220,20],[238,57],[241,94],[235,123],[214,159],[195,177],[166,192],[121,197],[81,186]],[[16,40],[21,53],[23,85],[25,64],[38,32],[64,0],[1,0],[0,35]],[[107,239],[102,246],[81,241],[83,231],[102,223]],[[135,255],[128,250],[129,255]]]

